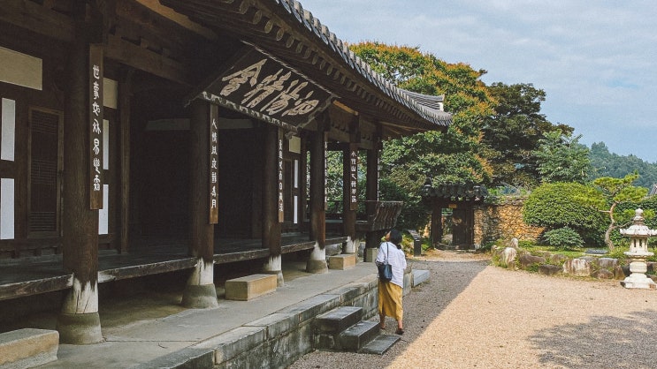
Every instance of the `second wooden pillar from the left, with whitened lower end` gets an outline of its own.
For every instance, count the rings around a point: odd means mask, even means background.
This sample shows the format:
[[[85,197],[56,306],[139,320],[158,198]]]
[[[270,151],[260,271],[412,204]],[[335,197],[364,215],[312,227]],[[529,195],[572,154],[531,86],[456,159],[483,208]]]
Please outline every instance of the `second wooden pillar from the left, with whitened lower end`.
[[[210,223],[210,159],[212,142],[210,126],[217,124],[216,105],[202,100],[191,103],[189,131],[191,155],[189,163],[189,253],[197,258],[196,267],[187,280],[182,305],[207,308],[218,305],[214,285],[214,224]],[[216,141],[216,136],[215,136]]]

